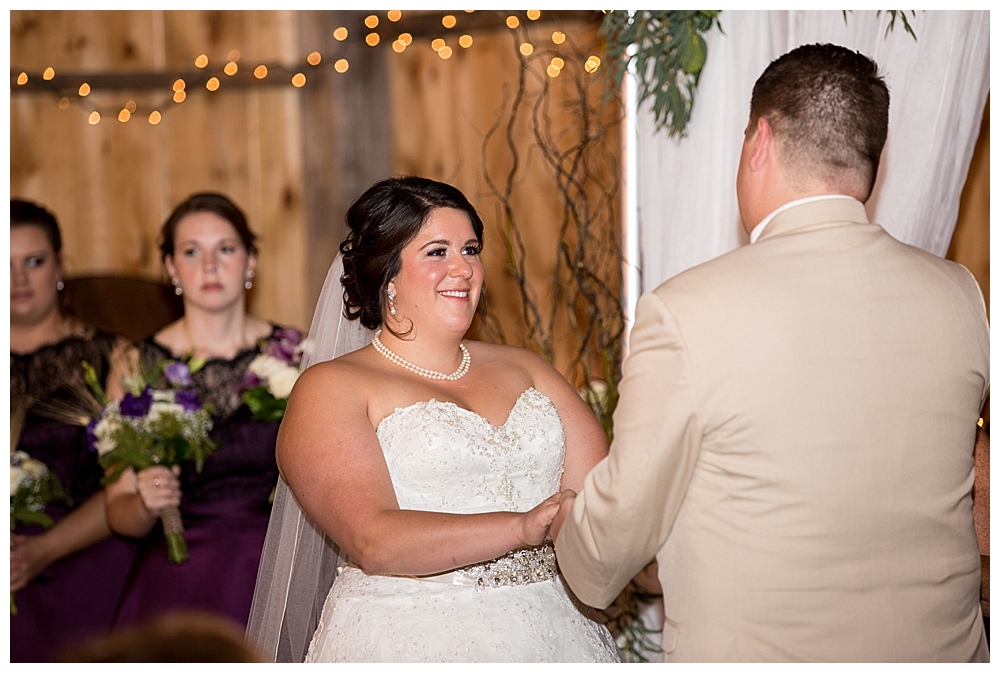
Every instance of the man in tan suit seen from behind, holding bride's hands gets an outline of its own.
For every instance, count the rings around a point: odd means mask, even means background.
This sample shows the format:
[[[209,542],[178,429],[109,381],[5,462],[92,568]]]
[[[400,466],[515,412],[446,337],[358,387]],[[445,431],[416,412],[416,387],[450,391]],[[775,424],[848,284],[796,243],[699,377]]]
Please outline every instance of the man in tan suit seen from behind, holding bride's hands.
[[[771,63],[736,181],[751,244],[644,295],[610,455],[552,526],[607,606],[654,557],[667,661],[986,661],[970,491],[980,290],[863,203],[871,60]]]

